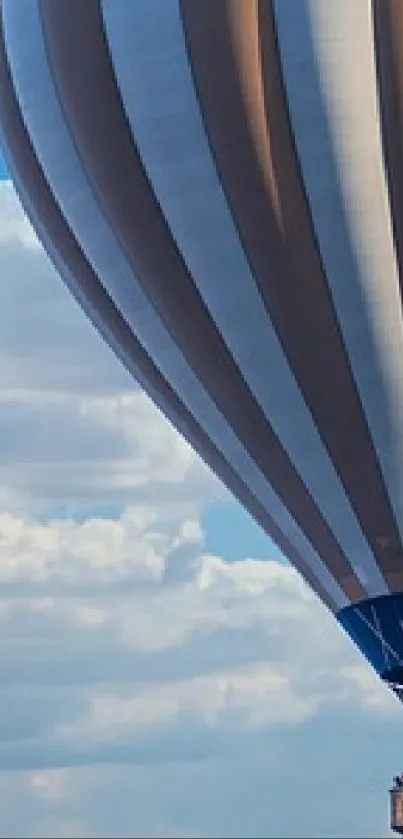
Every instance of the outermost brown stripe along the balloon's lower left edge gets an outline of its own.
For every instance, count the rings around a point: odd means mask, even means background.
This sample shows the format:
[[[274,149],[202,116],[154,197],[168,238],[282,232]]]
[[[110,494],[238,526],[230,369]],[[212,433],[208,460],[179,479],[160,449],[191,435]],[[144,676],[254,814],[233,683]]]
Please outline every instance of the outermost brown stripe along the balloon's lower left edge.
[[[100,314],[107,330],[114,336],[122,351],[131,360],[132,364],[141,371],[144,381],[148,383],[148,390],[154,401],[156,401],[155,394],[159,394],[160,409],[176,426],[186,427],[187,439],[202,459],[229,487],[234,496],[244,505],[263,530],[276,542],[280,550],[289,558],[318,597],[331,611],[337,611],[336,603],[320,584],[298,551],[279,530],[267,510],[258,502],[239,475],[227,463],[192,414],[186,410],[161,376],[86,260],[56,204],[25,130],[5,55],[1,26],[0,101],[1,130],[7,146],[12,149],[13,163],[18,171],[18,176],[24,187],[29,191],[35,213],[41,219],[46,235],[51,240],[60,259],[77,279],[89,306],[94,307]],[[35,218],[31,216],[30,220],[35,227]],[[87,312],[87,314],[90,316],[90,312]]]

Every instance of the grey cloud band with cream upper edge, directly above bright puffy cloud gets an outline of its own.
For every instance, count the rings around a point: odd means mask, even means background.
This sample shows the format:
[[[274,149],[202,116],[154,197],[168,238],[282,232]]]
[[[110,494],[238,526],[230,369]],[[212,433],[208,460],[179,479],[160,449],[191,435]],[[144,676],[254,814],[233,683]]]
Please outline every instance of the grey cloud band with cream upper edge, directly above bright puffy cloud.
[[[188,444],[140,392],[100,397],[0,392],[0,485],[42,508],[128,504],[144,497],[199,505],[215,486]]]

